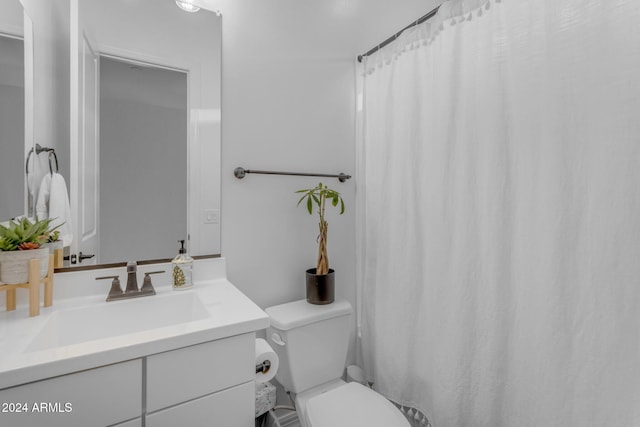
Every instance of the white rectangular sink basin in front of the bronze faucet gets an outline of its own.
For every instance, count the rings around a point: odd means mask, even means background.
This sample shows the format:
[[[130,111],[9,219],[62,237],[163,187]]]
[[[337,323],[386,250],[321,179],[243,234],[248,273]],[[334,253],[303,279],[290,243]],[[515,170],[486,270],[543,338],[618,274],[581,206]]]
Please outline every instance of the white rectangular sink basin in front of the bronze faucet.
[[[47,320],[26,351],[144,332],[207,317],[209,313],[198,294],[192,292],[172,292],[58,310]]]

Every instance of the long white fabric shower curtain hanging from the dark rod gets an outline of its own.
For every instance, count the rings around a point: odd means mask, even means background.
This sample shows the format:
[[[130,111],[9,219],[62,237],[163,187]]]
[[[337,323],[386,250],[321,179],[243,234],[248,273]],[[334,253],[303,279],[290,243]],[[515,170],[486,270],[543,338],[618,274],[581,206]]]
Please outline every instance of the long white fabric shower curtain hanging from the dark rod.
[[[451,0],[360,86],[374,388],[434,427],[640,426],[640,2]]]

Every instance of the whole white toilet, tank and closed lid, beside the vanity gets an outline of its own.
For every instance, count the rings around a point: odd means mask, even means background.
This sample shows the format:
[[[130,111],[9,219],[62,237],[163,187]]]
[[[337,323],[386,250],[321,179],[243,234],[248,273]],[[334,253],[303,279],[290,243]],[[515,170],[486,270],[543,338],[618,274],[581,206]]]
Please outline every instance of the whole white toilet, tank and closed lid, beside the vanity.
[[[303,427],[409,427],[387,399],[358,383],[345,383],[351,305],[306,300],[269,307],[267,341],[280,359],[276,379],[295,394]]]

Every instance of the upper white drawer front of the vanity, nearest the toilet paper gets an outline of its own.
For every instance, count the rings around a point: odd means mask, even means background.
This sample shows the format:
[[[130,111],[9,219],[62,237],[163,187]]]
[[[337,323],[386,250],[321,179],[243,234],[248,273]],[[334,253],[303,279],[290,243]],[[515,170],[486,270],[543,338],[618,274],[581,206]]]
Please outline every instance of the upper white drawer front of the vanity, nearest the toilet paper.
[[[211,341],[147,358],[147,412],[251,381],[255,334]]]

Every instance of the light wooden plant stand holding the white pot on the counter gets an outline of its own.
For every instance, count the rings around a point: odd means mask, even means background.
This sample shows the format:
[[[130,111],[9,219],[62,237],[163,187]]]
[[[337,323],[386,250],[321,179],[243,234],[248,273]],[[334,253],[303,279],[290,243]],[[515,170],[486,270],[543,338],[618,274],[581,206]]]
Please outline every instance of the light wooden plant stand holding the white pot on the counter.
[[[55,259],[62,259],[62,250],[57,249],[55,255],[49,255],[49,268],[47,275],[40,278],[40,260],[32,259],[29,261],[29,282],[18,283],[15,285],[0,285],[0,291],[6,291],[7,311],[16,309],[16,289],[23,288],[29,290],[29,316],[38,316],[40,314],[40,283],[44,284],[44,306],[49,307],[53,304],[53,268]]]

